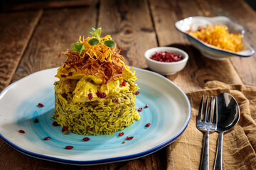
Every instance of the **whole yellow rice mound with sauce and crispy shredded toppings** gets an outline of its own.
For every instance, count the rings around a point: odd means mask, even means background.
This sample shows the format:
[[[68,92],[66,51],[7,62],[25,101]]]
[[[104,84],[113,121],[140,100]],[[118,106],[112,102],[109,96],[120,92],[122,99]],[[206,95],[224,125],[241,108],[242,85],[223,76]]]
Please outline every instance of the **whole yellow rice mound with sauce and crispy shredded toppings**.
[[[137,77],[129,69],[120,50],[104,44],[80,43],[85,50],[62,52],[66,62],[55,77],[55,113],[61,126],[80,135],[112,134],[131,125],[140,116],[135,109]],[[100,40],[111,40],[110,35]]]

